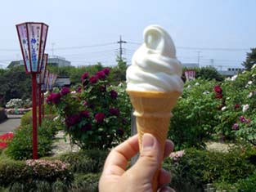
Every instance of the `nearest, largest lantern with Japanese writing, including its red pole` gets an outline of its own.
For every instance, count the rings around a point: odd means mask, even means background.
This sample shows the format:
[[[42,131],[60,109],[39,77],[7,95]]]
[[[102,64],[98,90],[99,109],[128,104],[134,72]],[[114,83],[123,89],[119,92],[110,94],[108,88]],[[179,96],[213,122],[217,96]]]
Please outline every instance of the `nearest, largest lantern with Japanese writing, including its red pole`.
[[[37,74],[40,73],[48,25],[26,22],[16,25],[26,74],[32,74],[33,159],[38,159]]]

